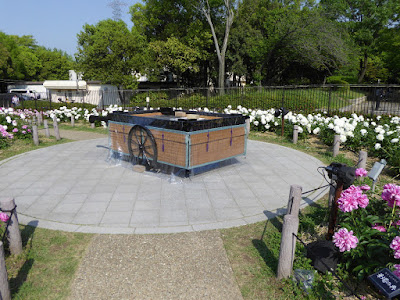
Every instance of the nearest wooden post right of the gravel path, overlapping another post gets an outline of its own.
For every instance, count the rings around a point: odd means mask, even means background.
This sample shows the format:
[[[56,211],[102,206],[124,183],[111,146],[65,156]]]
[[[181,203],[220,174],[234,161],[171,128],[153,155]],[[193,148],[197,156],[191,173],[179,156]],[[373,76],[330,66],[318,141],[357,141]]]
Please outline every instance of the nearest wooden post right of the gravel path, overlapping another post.
[[[279,262],[277,278],[287,278],[292,274],[294,253],[296,249],[296,237],[299,229],[299,218],[294,215],[283,217],[281,248],[279,252]]]

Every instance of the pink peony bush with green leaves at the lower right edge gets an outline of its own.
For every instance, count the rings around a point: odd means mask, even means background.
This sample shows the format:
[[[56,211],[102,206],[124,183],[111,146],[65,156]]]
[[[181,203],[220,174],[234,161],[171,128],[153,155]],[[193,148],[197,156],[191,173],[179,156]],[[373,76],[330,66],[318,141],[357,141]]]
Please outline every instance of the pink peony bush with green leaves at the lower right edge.
[[[362,178],[366,172],[358,175]],[[338,199],[333,242],[342,252],[340,267],[359,280],[384,267],[400,277],[400,186],[386,184],[375,194],[367,180],[358,180],[362,185],[350,186]]]

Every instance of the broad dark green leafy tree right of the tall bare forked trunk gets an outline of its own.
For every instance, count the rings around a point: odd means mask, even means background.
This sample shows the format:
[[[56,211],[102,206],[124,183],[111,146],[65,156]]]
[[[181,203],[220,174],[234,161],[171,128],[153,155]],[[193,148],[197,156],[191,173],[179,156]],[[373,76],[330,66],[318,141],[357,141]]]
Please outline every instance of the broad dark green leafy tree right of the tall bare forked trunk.
[[[246,49],[242,57],[255,83],[287,83],[291,71],[302,76],[299,70],[330,74],[346,62],[347,47],[340,30],[316,7],[305,4],[246,0],[240,6],[237,24],[248,30],[235,27],[234,37],[241,32],[242,42],[233,44],[238,51]]]

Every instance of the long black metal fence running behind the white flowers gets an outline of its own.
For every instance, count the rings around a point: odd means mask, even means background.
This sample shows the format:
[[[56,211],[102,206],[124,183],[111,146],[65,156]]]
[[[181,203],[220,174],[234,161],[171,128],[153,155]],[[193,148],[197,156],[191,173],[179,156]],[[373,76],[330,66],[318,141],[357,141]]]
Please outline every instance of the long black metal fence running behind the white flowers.
[[[252,109],[285,107],[295,112],[355,112],[363,115],[400,115],[400,86],[323,85],[79,91],[70,97],[53,97],[53,103],[90,103],[130,107],[182,107],[222,110],[230,105]],[[0,105],[2,98],[0,95]],[[3,105],[7,104],[3,101]]]

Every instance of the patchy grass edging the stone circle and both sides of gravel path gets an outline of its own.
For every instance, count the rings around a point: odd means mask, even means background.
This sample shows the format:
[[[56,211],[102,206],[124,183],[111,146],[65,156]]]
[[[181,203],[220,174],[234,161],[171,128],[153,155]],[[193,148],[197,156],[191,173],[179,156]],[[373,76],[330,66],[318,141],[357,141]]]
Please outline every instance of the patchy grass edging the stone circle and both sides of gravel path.
[[[67,124],[60,125],[62,129],[93,130],[88,127],[87,124],[77,124],[74,128]],[[106,133],[103,128],[94,130]],[[332,161],[354,165],[357,160],[357,155],[345,151],[333,158],[330,149],[317,139],[300,140],[297,145],[293,145],[287,139],[272,133],[251,133],[250,138],[304,151],[327,165]],[[0,160],[60,143],[54,138],[43,137],[41,137],[41,142],[41,145],[36,147],[31,141],[16,141],[10,148],[0,151]],[[369,167],[372,163],[373,161],[370,160]],[[381,176],[381,184],[389,181],[393,182],[387,174]],[[300,235],[302,238],[310,239],[320,234],[318,230],[323,230],[323,225],[327,223],[326,206],[327,200],[324,198],[301,211]],[[313,292],[309,295],[297,287],[292,280],[278,281],[276,279],[281,224],[282,219],[275,218],[268,222],[220,230],[243,297],[245,299],[338,299],[346,296],[347,291],[331,275],[317,274]],[[13,299],[65,299],[93,235],[22,225],[21,232],[24,244],[23,254],[18,257],[7,255],[6,259]],[[295,269],[310,269],[301,244],[298,243],[297,248]],[[358,288],[359,295],[366,295],[367,299],[379,297],[366,285],[353,286],[353,288]]]

